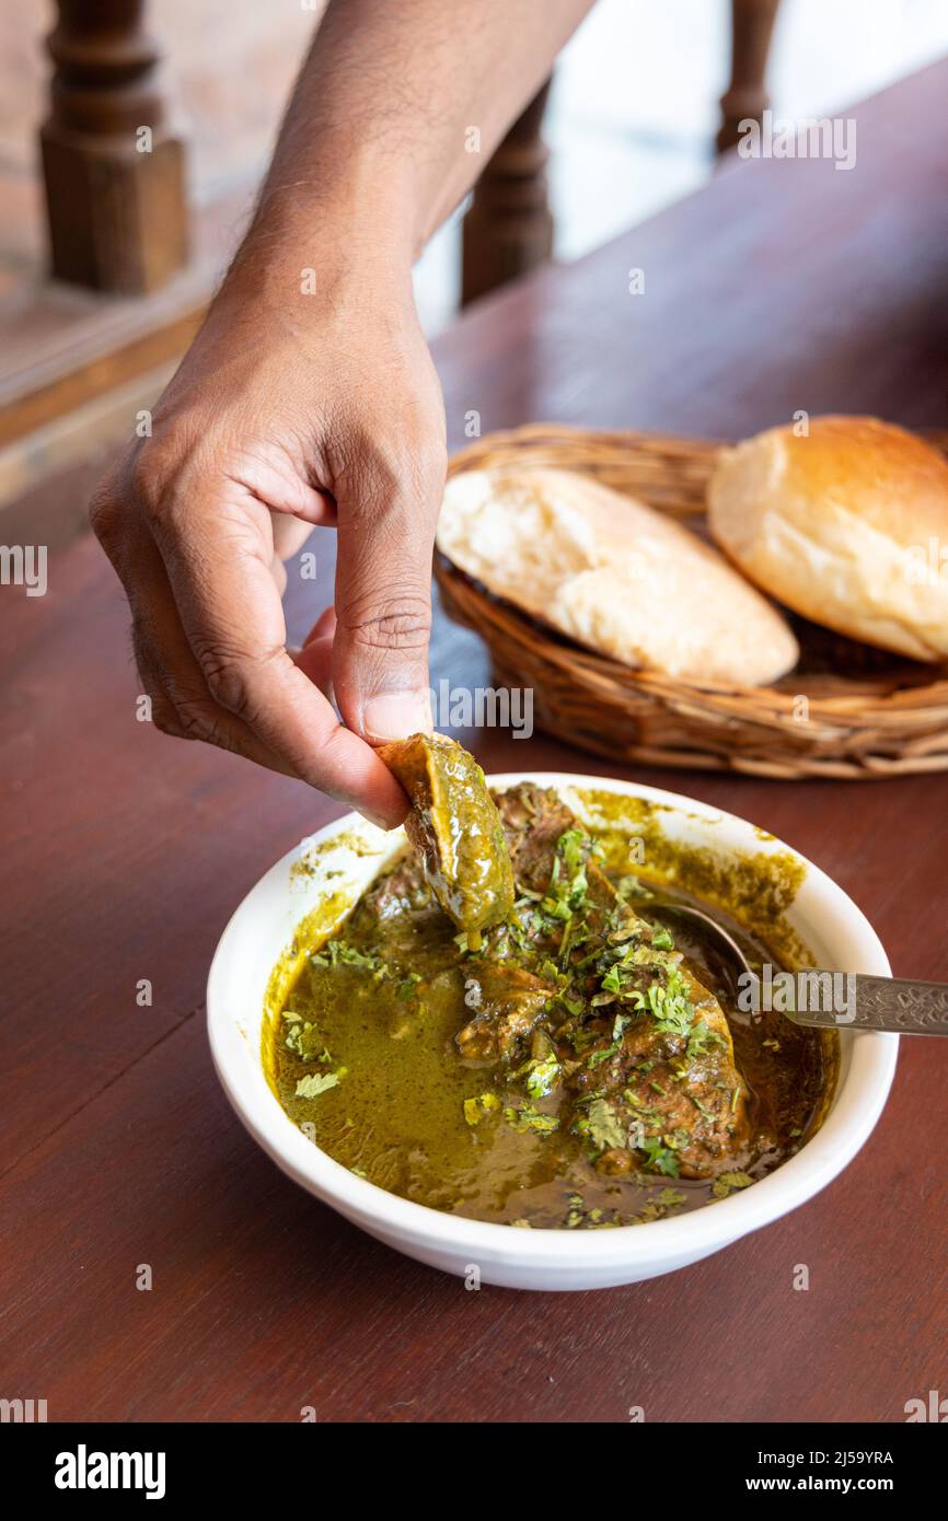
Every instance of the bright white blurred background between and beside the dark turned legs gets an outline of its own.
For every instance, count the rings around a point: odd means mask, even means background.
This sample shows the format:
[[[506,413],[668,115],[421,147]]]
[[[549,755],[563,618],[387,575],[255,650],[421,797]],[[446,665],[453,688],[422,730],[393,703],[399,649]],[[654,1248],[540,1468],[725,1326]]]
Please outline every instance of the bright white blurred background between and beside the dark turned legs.
[[[714,172],[730,32],[729,0],[598,0],[560,55],[545,116],[558,259],[578,259]],[[834,114],[946,52],[943,0],[781,0],[770,106]],[[432,329],[457,301],[458,221],[418,268]]]

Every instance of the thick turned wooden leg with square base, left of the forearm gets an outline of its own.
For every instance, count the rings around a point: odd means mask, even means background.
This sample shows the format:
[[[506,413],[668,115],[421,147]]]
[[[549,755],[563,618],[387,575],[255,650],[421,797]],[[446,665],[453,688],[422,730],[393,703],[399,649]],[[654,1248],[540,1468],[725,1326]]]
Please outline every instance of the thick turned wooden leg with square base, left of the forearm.
[[[58,0],[40,131],[52,272],[128,295],[187,257],[184,151],[164,119],[143,0]]]

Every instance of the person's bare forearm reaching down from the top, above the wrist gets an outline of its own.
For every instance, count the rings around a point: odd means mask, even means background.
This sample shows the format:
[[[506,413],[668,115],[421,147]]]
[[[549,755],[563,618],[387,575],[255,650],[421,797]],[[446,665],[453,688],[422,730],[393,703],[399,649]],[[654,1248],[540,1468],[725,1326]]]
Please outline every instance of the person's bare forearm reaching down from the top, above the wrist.
[[[239,265],[320,239],[408,269],[592,0],[330,0]],[[470,151],[469,129],[479,134]]]

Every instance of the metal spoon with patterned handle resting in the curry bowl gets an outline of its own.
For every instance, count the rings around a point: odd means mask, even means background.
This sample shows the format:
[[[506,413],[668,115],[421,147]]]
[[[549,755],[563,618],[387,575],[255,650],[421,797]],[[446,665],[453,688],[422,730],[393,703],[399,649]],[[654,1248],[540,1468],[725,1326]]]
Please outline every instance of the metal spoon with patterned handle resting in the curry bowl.
[[[796,1025],[823,1030],[890,1030],[905,1036],[948,1036],[948,983],[918,983],[864,972],[755,972],[740,945],[711,914],[688,903],[650,903],[648,913],[701,929],[718,952],[738,1007],[776,1010]]]

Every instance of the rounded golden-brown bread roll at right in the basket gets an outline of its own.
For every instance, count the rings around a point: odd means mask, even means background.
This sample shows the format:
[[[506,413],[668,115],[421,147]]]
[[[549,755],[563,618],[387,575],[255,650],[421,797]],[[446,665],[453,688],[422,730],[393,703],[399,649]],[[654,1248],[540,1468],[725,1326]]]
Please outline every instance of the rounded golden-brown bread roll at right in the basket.
[[[814,417],[729,450],[711,532],[787,607],[916,660],[948,657],[948,462],[872,417]],[[934,546],[934,551],[933,548]]]

